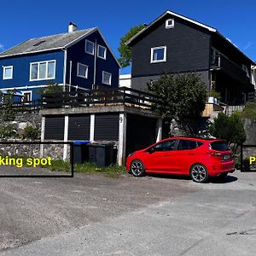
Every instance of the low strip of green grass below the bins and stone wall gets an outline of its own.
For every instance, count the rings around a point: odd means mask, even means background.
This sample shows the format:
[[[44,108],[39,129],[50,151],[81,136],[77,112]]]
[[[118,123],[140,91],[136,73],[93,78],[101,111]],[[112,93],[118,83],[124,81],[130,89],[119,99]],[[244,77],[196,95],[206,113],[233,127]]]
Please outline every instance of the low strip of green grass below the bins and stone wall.
[[[51,166],[45,166],[51,171],[61,171],[69,172],[71,166],[69,163],[63,160],[52,160]],[[125,166],[107,166],[99,167],[93,163],[84,163],[81,165],[74,165],[75,172],[87,172],[87,173],[102,173],[108,177],[119,177],[122,174],[125,174]]]

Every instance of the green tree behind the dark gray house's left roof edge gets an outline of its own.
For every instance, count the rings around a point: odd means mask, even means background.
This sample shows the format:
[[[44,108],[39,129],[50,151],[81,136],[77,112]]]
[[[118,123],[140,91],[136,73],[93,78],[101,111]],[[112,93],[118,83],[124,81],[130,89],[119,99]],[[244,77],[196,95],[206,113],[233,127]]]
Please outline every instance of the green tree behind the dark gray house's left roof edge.
[[[128,67],[129,65],[131,65],[131,47],[126,45],[125,43],[134,35],[136,35],[137,32],[140,32],[144,27],[144,25],[133,26],[123,38],[120,38],[118,50],[120,54],[119,63],[121,67]]]

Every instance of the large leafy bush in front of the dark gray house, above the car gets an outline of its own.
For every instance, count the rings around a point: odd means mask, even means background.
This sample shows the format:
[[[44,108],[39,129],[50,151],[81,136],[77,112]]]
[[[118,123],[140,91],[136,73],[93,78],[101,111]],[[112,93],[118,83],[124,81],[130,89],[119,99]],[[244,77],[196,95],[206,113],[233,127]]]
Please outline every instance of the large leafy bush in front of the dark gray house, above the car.
[[[183,75],[162,75],[153,83],[148,83],[148,91],[160,96],[152,105],[163,118],[171,117],[183,127],[188,135],[198,132],[198,120],[205,109],[206,85],[195,73]]]

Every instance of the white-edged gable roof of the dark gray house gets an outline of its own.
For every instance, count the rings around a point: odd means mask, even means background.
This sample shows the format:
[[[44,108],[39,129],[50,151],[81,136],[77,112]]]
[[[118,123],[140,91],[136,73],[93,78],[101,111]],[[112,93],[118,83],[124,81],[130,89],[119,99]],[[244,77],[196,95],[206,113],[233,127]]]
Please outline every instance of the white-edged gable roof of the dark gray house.
[[[167,10],[163,15],[160,15],[160,17],[158,17],[157,19],[153,20],[150,24],[148,24],[148,26],[145,26],[140,32],[137,32],[136,35],[134,35],[132,38],[130,38],[125,44],[131,44],[131,42],[133,42],[138,36],[140,36],[141,34],[143,34],[144,32],[148,31],[149,28],[151,28],[152,26],[154,26],[154,24],[156,22],[158,22],[159,20],[161,20],[163,17],[165,17],[166,15],[172,15],[174,17],[180,18],[182,20],[187,20],[197,26],[201,26],[205,29],[207,29],[209,32],[213,32],[215,34],[217,34],[219,37],[224,38],[224,40],[226,42],[228,42],[228,44],[232,45],[233,47],[235,47],[242,55],[244,55],[249,61],[252,61],[247,55],[245,55],[240,49],[237,48],[237,46],[235,44],[233,44],[232,42],[230,42],[230,39],[225,38],[220,32],[218,32],[218,30],[212,26],[207,26],[199,21],[196,20],[192,20],[186,16],[183,15],[178,15],[170,10]],[[254,62],[254,61],[252,61]]]

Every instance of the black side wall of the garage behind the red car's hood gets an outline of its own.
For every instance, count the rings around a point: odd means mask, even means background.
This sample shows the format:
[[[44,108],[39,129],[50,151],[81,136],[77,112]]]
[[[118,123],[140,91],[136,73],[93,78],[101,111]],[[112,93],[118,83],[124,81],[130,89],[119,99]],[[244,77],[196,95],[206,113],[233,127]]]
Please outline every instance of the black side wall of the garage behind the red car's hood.
[[[126,155],[155,143],[156,119],[127,115]]]

